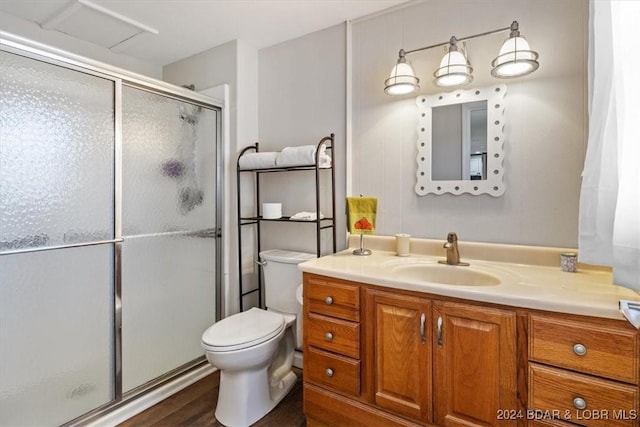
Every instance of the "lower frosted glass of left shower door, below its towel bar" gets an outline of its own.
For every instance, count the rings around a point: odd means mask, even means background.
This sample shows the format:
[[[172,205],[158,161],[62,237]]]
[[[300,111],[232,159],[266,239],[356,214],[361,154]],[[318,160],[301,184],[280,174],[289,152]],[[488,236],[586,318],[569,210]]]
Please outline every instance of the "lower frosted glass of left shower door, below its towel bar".
[[[57,426],[114,398],[113,248],[0,257],[0,425]]]

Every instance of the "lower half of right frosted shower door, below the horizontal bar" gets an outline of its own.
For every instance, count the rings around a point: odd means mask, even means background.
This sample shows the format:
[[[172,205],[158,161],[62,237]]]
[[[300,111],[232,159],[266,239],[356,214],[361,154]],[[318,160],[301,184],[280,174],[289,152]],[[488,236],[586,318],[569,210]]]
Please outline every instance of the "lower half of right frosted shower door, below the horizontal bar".
[[[184,235],[125,238],[122,386],[126,393],[204,354],[215,321],[215,241]]]

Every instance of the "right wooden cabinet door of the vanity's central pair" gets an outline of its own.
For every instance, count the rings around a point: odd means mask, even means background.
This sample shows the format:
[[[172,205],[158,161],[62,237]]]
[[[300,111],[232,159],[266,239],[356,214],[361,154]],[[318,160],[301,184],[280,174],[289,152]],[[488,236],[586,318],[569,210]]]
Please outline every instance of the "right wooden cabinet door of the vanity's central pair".
[[[501,416],[517,410],[515,314],[441,301],[433,306],[436,423],[515,425],[515,415]]]

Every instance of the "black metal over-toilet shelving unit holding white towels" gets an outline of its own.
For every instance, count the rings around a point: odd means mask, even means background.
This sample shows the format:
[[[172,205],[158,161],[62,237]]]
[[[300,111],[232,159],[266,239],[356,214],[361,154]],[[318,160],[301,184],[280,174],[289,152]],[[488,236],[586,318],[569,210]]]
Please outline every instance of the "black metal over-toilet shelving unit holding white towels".
[[[316,226],[316,255],[320,257],[322,255],[322,240],[321,233],[323,230],[330,229],[331,237],[332,237],[332,245],[333,245],[333,253],[336,252],[336,179],[335,179],[335,150],[334,150],[334,141],[335,135],[332,133],[329,136],[325,136],[322,138],[316,148],[316,159],[315,164],[311,165],[301,165],[295,167],[284,167],[284,168],[268,168],[268,169],[240,169],[240,158],[246,153],[251,152],[259,152],[259,143],[255,143],[254,145],[250,145],[244,148],[240,155],[238,156],[238,160],[236,163],[236,179],[237,179],[237,203],[238,203],[238,289],[240,294],[240,311],[244,311],[244,297],[252,294],[258,293],[258,304],[260,307],[264,306],[264,298],[262,293],[262,274],[258,274],[258,285],[255,289],[251,289],[249,291],[243,290],[243,281],[242,281],[242,230],[247,226],[254,226],[256,233],[256,261],[258,261],[257,257],[259,256],[261,250],[261,233],[260,226],[262,222],[287,222],[287,223],[305,223],[305,224],[315,224]],[[324,145],[326,151],[331,155],[331,165],[329,167],[320,167],[320,147]],[[278,219],[266,219],[261,215],[261,199],[260,199],[260,177],[265,173],[283,173],[283,172],[298,172],[298,171],[314,171],[315,172],[315,199],[316,199],[316,219],[315,220],[296,220],[291,219],[291,217],[282,217]],[[242,195],[242,185],[240,183],[240,178],[242,174],[250,173],[253,174],[255,179],[255,215],[250,217],[242,216],[241,212],[241,195]],[[329,173],[331,178],[331,216],[324,217],[320,219],[320,186],[321,186],[321,175]]]

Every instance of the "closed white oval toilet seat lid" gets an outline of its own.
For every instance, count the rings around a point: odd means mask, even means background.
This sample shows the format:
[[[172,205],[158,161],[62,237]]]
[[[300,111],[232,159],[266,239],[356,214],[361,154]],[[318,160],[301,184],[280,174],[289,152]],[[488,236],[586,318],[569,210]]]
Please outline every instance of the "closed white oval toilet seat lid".
[[[282,315],[253,307],[210,326],[202,334],[202,345],[214,352],[241,350],[270,340],[284,328]]]

